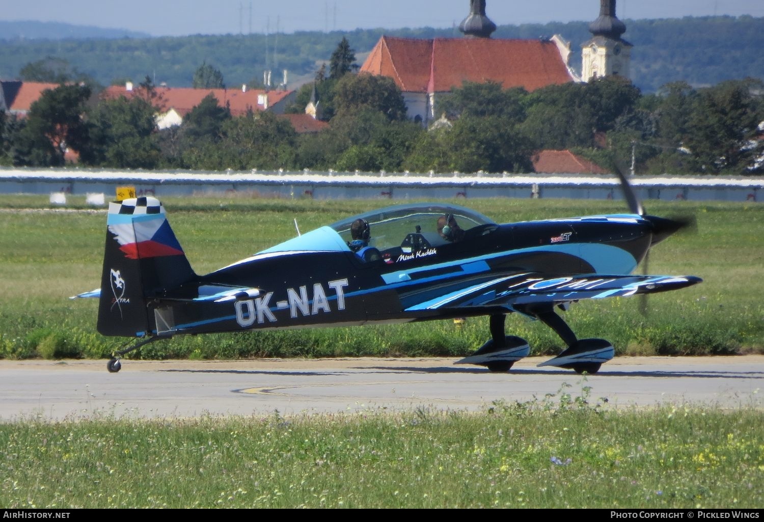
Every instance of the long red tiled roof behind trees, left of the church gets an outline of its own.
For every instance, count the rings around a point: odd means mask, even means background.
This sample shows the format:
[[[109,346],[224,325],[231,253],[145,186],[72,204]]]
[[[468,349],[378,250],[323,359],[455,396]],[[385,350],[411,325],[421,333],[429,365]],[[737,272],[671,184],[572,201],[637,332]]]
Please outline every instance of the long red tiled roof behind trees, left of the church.
[[[128,91],[125,86],[111,86],[104,89],[101,97],[102,99],[116,99],[120,96],[130,98],[136,96],[140,92],[139,89],[136,86],[133,90]],[[157,109],[163,111],[175,109],[181,116],[188,114],[210,93],[215,96],[219,105],[225,106],[228,103],[231,108],[231,115],[241,116],[250,109],[254,112],[264,110],[264,105],[258,104],[261,101],[258,99],[259,96],[267,96],[267,106],[272,107],[292,92],[281,90],[266,92],[263,89],[248,89],[247,92],[242,92],[241,89],[191,89],[189,87],[157,87],[156,90],[158,96],[155,106]]]

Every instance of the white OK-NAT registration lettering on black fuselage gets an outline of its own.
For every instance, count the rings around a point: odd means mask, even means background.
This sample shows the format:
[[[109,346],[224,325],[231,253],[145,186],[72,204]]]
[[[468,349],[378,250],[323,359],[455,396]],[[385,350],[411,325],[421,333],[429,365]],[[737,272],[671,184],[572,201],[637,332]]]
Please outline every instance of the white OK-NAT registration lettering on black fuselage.
[[[318,313],[331,313],[332,300],[337,301],[337,310],[345,310],[345,287],[348,287],[348,280],[329,281],[326,286],[329,287],[329,295],[324,285],[316,283],[313,285],[310,298],[306,286],[299,287],[298,290],[287,288],[286,300],[277,301],[273,306],[270,304],[270,300],[274,297],[273,292],[255,299],[236,301],[234,303],[236,322],[243,328],[248,328],[256,322],[257,324],[263,324],[266,321],[276,323],[278,319],[274,311],[287,309],[292,319],[297,319],[299,316],[315,316]]]

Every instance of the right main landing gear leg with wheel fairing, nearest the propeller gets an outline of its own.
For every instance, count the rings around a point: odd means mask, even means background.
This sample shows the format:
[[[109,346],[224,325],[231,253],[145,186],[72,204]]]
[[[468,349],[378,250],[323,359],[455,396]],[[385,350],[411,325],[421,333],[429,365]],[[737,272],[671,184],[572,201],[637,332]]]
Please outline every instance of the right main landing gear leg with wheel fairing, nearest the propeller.
[[[595,374],[600,371],[603,362],[610,361],[615,355],[613,345],[605,339],[578,339],[568,323],[565,323],[565,319],[557,315],[552,305],[533,310],[533,315],[553,329],[568,345],[560,355],[542,362],[539,366],[558,366],[578,374]]]

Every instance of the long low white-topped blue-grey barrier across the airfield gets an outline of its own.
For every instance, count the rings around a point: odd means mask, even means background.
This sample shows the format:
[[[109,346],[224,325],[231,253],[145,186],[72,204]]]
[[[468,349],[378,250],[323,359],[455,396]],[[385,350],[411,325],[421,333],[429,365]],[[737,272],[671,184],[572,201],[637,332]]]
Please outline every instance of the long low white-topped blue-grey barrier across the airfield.
[[[635,176],[641,199],[760,202],[764,178],[718,176]],[[360,173],[257,171],[191,172],[0,169],[0,193],[114,193],[135,186],[139,196],[241,193],[314,199],[458,199],[483,197],[623,199],[615,176],[581,174]]]

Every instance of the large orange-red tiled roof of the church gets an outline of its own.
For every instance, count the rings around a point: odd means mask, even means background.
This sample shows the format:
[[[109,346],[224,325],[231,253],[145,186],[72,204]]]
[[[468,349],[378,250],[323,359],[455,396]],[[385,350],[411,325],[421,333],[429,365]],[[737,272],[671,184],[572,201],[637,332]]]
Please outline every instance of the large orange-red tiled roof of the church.
[[[465,81],[533,91],[573,81],[557,45],[542,40],[383,36],[361,71],[390,76],[404,92],[446,92]]]

